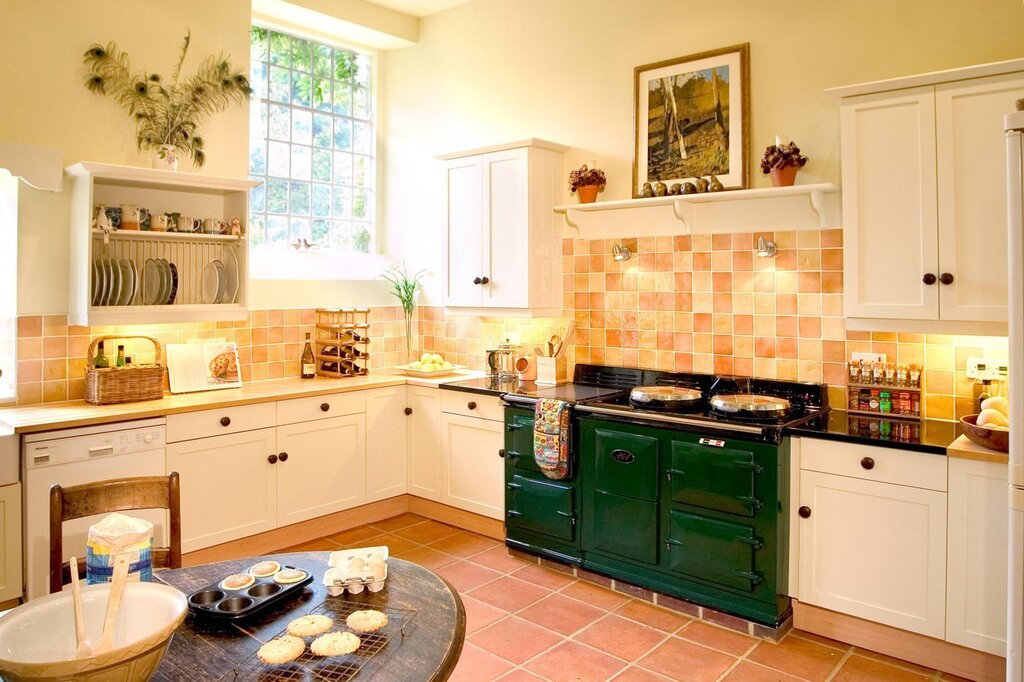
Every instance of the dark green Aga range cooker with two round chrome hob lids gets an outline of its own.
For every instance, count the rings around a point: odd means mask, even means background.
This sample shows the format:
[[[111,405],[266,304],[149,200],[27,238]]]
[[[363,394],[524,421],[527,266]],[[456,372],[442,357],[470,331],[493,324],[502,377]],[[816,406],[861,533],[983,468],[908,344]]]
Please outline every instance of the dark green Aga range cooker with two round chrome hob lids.
[[[766,625],[783,619],[783,430],[827,411],[825,386],[645,371],[632,391],[572,406],[560,481],[532,460],[526,397],[505,400],[510,547]]]

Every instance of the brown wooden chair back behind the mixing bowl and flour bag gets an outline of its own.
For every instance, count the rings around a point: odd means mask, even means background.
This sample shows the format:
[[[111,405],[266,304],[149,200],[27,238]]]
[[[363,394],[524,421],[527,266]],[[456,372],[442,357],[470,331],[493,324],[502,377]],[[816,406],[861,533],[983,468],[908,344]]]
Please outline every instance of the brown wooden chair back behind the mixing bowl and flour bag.
[[[50,487],[50,592],[59,592],[71,582],[71,568],[63,561],[65,521],[94,514],[136,509],[167,509],[171,516],[171,546],[154,547],[154,568],[181,567],[181,492],[177,472],[167,476],[113,478],[95,483]],[[79,576],[85,576],[85,549],[78,560]]]

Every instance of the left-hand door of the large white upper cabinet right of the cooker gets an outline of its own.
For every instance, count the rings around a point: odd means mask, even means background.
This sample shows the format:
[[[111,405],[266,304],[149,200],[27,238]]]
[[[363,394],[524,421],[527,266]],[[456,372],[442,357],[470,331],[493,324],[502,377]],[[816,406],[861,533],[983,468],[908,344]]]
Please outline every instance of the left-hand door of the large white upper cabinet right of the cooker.
[[[935,319],[934,89],[851,97],[840,121],[846,313]]]

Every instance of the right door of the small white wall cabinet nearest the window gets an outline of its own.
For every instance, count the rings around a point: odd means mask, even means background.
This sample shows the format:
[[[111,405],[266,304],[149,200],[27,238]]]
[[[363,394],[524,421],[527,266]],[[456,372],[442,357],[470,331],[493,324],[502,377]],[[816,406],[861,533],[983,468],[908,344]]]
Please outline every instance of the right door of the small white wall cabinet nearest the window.
[[[527,155],[519,147],[483,156],[482,274],[487,283],[481,289],[486,307],[529,306]]]

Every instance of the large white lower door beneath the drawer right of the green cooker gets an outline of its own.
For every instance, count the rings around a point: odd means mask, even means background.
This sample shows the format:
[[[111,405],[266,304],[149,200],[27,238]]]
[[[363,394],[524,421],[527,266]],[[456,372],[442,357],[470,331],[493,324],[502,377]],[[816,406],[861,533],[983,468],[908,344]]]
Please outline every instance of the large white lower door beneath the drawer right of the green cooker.
[[[800,508],[802,602],[943,637],[945,493],[803,470]]]

